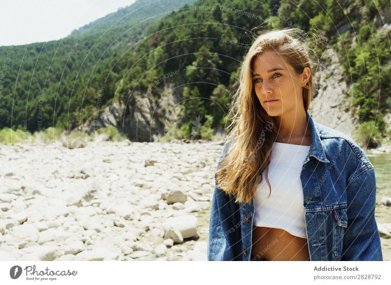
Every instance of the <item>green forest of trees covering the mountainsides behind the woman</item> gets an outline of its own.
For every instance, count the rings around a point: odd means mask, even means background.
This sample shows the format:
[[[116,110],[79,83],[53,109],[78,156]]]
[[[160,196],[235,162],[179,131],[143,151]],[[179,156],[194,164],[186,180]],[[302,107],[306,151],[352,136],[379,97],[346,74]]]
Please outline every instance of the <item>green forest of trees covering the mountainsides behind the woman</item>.
[[[98,98],[100,111],[122,101],[129,112],[136,94],[154,106],[170,83],[186,100],[171,132],[191,136],[200,116],[201,136],[211,138],[229,120],[246,48],[262,30],[297,27],[326,39],[319,55],[337,51],[358,116],[390,136],[383,117],[391,110],[391,32],[379,15],[390,8],[389,0],[138,0],[64,39],[0,47],[0,129],[70,131],[93,119]],[[129,114],[119,120],[118,131],[132,139]],[[165,118],[158,123],[152,131]]]

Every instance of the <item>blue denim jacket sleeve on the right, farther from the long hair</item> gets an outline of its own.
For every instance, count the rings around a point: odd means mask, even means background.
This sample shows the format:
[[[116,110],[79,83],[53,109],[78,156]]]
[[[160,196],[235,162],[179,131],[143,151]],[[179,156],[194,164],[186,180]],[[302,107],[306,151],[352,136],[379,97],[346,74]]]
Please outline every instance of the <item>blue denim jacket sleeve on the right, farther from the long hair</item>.
[[[348,227],[342,261],[382,261],[380,234],[375,220],[376,178],[373,167],[349,182]]]

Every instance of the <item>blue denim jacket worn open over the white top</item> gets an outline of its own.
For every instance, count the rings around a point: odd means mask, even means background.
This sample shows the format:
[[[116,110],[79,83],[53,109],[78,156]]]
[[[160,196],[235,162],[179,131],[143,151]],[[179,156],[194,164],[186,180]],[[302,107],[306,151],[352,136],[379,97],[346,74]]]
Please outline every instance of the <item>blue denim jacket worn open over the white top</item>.
[[[373,165],[350,137],[306,114],[311,145],[300,179],[310,260],[382,261]],[[228,146],[227,140],[217,169]],[[253,217],[254,198],[251,203],[235,203],[233,196],[217,188],[215,175],[208,261],[250,261]]]

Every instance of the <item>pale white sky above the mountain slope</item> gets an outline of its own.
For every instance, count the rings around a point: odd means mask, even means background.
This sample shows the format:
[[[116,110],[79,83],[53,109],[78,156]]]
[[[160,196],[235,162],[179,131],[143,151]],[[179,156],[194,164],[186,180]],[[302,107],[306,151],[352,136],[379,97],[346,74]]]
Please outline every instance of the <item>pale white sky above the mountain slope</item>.
[[[0,0],[0,46],[65,38],[136,0]]]

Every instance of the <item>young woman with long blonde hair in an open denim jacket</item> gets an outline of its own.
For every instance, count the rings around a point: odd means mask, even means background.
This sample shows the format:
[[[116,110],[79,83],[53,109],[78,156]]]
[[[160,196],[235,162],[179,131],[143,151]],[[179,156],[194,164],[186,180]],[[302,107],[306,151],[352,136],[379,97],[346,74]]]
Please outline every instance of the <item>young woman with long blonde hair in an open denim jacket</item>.
[[[382,260],[373,165],[307,111],[316,67],[307,41],[298,29],[269,31],[244,57],[208,260]]]

